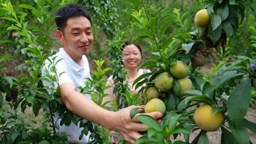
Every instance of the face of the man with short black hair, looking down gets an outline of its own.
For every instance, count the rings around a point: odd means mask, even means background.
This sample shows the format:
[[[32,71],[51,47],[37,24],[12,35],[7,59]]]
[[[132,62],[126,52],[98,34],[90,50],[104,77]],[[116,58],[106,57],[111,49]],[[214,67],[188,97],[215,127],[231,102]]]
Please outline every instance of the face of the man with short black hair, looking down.
[[[80,58],[89,52],[93,42],[92,27],[90,21],[84,16],[72,17],[67,20],[64,34],[57,32],[59,40],[63,43],[65,51],[73,59]]]

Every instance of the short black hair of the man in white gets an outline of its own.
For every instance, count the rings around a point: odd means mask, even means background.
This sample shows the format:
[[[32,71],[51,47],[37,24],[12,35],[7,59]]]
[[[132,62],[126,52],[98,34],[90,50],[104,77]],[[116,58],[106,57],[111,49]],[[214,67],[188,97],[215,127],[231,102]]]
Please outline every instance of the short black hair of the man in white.
[[[68,4],[67,6],[58,9],[55,12],[55,16],[60,16],[55,18],[54,20],[58,29],[61,30],[62,32],[64,28],[67,26],[67,20],[72,17],[84,16],[92,24],[91,15],[89,14],[89,12],[84,7],[78,4]]]

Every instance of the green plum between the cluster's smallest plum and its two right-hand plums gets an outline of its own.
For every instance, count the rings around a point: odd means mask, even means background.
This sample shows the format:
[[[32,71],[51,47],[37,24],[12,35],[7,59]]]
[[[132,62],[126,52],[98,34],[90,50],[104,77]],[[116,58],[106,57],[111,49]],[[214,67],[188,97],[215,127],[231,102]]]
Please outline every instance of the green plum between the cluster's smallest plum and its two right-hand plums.
[[[167,72],[158,74],[154,81],[156,88],[163,92],[170,90],[173,85],[173,77]]]

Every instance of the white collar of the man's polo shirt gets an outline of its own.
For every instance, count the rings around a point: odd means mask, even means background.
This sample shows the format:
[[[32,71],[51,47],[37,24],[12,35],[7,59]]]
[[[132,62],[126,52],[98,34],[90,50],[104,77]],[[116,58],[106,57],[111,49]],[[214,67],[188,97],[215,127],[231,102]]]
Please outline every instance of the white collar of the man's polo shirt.
[[[68,67],[72,67],[76,72],[84,69],[83,67],[80,67],[69,55],[68,53],[63,49],[60,48],[60,54],[62,55],[63,60],[66,62]],[[82,57],[83,65],[84,65],[84,60]]]

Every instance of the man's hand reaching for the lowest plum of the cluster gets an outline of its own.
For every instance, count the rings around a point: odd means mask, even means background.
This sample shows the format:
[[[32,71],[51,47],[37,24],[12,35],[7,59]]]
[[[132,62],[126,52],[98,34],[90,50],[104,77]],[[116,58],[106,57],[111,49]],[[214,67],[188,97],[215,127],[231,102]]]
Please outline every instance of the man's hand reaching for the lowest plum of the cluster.
[[[139,132],[146,132],[149,128],[147,125],[140,123],[136,116],[148,115],[155,119],[159,119],[163,116],[160,112],[152,112],[136,114],[131,119],[130,111],[133,108],[145,108],[145,105],[130,106],[115,112],[114,117],[111,117],[112,123],[109,125],[109,127],[107,127],[109,130],[120,132],[124,140],[132,144],[142,136]],[[142,109],[139,109],[139,111],[142,111]],[[161,120],[158,120],[158,122],[161,122]]]

